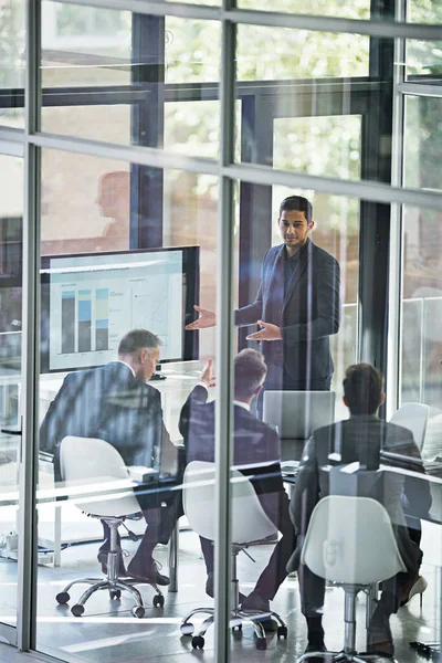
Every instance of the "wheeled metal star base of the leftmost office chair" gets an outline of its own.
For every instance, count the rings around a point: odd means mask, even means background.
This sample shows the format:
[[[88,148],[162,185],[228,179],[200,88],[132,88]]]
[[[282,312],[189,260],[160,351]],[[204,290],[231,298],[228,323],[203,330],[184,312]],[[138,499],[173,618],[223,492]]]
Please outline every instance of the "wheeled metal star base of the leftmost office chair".
[[[130,578],[127,578],[127,579],[125,578],[124,580],[122,578],[116,578],[115,580],[110,580],[110,579],[103,580],[103,578],[101,578],[101,579],[99,578],[80,578],[78,580],[73,580],[72,582],[66,585],[66,587],[63,589],[63,591],[61,591],[60,593],[56,594],[56,600],[60,604],[64,606],[64,604],[69,603],[69,601],[71,599],[69,590],[71,589],[71,587],[74,587],[74,585],[91,585],[91,587],[82,593],[82,596],[80,597],[80,599],[75,603],[75,606],[73,606],[71,608],[71,612],[74,617],[81,617],[83,614],[84,604],[92,597],[93,593],[95,593],[96,591],[106,590],[106,589],[109,592],[110,599],[119,599],[122,596],[122,591],[129,592],[135,599],[135,606],[131,609],[133,615],[137,617],[137,618],[141,618],[145,614],[145,606],[143,602],[143,597],[141,597],[140,592],[138,591],[138,589],[136,587],[134,587],[134,585],[141,585],[141,582],[139,580],[135,580],[135,579],[131,580]],[[145,582],[143,585],[150,585],[150,587],[156,591],[156,594],[152,599],[154,607],[162,608],[162,606],[165,604],[165,597],[162,596],[161,591],[158,589],[158,586],[155,585],[154,582]]]

